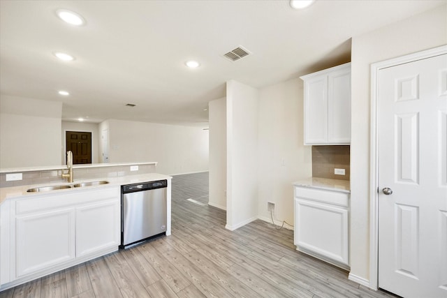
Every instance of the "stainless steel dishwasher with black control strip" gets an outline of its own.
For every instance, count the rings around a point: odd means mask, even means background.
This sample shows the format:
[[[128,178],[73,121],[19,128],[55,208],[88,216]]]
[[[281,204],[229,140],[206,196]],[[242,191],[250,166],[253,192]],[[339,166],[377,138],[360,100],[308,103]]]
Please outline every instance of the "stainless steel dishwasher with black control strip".
[[[122,186],[121,246],[166,232],[166,189],[168,181]]]

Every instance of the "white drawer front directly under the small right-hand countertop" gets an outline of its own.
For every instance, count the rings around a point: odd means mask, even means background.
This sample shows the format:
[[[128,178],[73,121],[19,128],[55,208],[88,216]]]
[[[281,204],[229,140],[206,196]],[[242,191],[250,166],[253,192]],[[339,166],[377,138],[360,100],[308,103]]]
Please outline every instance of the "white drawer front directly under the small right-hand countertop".
[[[295,198],[335,204],[342,207],[349,205],[349,193],[325,191],[323,189],[295,186]]]

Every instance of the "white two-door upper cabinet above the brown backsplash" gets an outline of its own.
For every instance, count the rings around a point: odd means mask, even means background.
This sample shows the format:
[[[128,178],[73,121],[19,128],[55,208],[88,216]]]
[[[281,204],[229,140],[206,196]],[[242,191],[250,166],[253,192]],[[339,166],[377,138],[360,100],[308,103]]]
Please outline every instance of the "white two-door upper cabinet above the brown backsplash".
[[[349,144],[351,63],[301,79],[305,82],[305,144]]]

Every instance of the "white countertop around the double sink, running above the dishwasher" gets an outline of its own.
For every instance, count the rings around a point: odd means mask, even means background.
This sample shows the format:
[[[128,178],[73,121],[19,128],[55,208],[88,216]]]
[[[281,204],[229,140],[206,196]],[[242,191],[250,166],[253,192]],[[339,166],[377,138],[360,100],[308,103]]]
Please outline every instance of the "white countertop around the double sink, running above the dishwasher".
[[[138,163],[141,165],[142,163]],[[122,165],[122,164],[120,164]],[[11,186],[11,187],[3,187],[0,188],[0,204],[3,203],[5,200],[11,199],[11,198],[17,198],[20,196],[32,196],[32,195],[43,195],[45,193],[66,193],[66,192],[73,192],[73,191],[82,191],[87,189],[93,189],[93,188],[101,188],[101,187],[108,187],[108,186],[122,186],[125,184],[135,184],[135,183],[142,183],[142,182],[149,182],[149,181],[157,181],[157,180],[165,180],[165,179],[172,179],[173,177],[170,177],[165,174],[159,174],[159,173],[149,173],[149,174],[138,174],[138,175],[129,175],[129,176],[122,176],[122,177],[105,177],[105,178],[96,178],[96,179],[75,179],[73,183],[68,182],[54,182],[54,183],[47,183],[47,184],[34,184],[34,185],[24,185],[24,186]],[[89,181],[109,181],[108,184],[101,184],[98,186],[85,186],[80,188],[66,188],[66,189],[59,189],[55,191],[45,191],[41,193],[27,193],[27,190],[29,188],[35,188],[39,186],[55,186],[55,185],[71,185],[71,184],[78,184],[81,182],[89,182]]]

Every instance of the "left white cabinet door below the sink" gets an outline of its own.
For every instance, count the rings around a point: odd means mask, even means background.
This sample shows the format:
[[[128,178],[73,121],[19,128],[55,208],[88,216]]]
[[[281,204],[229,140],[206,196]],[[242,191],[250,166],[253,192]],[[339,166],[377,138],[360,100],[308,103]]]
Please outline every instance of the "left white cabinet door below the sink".
[[[17,278],[75,258],[75,211],[17,216]]]

